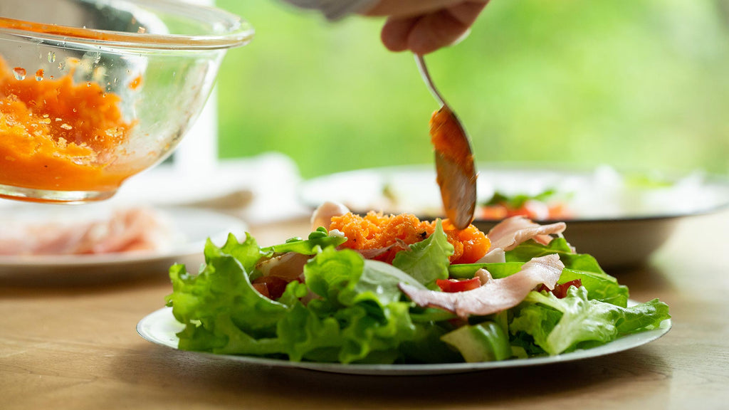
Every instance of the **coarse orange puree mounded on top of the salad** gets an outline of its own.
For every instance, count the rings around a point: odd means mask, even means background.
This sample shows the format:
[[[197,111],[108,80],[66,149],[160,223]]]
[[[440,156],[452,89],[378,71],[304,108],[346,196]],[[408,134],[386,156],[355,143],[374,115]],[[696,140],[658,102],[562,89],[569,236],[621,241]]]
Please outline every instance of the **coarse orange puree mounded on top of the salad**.
[[[343,247],[354,250],[371,250],[389,247],[398,239],[406,244],[414,244],[426,239],[435,231],[435,222],[421,221],[413,214],[385,215],[370,211],[364,217],[351,212],[340,217],[332,217],[329,229],[344,233],[347,241]],[[486,234],[474,225],[459,231],[449,220],[443,220],[443,231],[455,252],[451,263],[474,263],[486,255],[491,241]],[[399,249],[394,248],[378,256],[378,260],[391,263]]]

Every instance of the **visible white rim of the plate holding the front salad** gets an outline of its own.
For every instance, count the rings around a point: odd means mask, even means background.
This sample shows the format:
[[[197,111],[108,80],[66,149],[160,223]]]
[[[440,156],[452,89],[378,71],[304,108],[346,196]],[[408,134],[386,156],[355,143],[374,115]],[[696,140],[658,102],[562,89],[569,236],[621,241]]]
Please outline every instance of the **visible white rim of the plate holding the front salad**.
[[[631,301],[630,303],[635,303]],[[172,308],[163,308],[152,312],[144,317],[137,324],[137,333],[147,341],[160,344],[165,347],[177,349],[179,339],[176,333],[184,328],[184,325],[177,322],[172,315]],[[397,365],[359,365],[340,363],[312,363],[312,362],[291,362],[289,360],[267,359],[263,357],[235,356],[235,355],[213,355],[206,352],[193,352],[195,354],[219,357],[223,360],[234,360],[252,365],[265,365],[277,368],[305,368],[316,371],[327,371],[340,374],[369,374],[375,376],[416,376],[423,374],[454,374],[469,371],[482,371],[496,368],[512,368],[531,365],[546,365],[551,363],[564,363],[572,360],[588,359],[623,352],[650,343],[660,336],[668,333],[671,329],[671,320],[664,320],[660,328],[647,330],[642,333],[635,333],[604,344],[599,347],[587,350],[577,350],[550,357],[532,357],[529,359],[502,360],[498,362],[482,363],[442,363],[442,364],[397,364]]]

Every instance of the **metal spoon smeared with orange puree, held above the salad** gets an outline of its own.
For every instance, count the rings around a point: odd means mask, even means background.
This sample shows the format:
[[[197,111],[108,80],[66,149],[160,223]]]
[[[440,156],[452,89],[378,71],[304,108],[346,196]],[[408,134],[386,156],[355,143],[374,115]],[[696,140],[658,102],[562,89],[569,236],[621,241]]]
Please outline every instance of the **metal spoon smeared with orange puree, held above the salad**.
[[[458,117],[433,85],[423,56],[416,54],[415,60],[425,85],[441,106],[430,120],[430,136],[445,216],[456,229],[464,229],[473,220],[476,209],[476,168],[471,145]]]

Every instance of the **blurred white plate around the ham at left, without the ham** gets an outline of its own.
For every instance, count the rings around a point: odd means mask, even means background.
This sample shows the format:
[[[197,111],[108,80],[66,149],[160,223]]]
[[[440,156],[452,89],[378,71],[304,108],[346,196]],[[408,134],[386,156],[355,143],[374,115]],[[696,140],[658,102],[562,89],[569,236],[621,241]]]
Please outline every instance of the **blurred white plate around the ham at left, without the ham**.
[[[190,266],[202,263],[208,237],[222,245],[228,233],[240,239],[246,232],[241,220],[218,212],[182,207],[163,207],[158,211],[174,229],[176,241],[168,250],[96,255],[0,255],[0,283],[80,285],[165,276],[174,263]]]

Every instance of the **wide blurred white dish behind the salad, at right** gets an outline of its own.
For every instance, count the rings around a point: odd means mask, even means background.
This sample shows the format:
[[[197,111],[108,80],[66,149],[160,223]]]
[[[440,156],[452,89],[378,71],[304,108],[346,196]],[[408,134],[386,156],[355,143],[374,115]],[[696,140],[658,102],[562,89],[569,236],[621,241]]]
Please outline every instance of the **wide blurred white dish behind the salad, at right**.
[[[625,183],[623,175],[607,167],[584,170],[538,164],[488,164],[478,167],[477,195],[482,203],[496,190],[511,195],[533,195],[550,188],[570,193],[566,201],[575,216],[565,220],[566,239],[577,252],[597,258],[604,268],[623,268],[644,263],[671,236],[682,217],[729,206],[729,182],[725,179],[691,174],[671,180],[675,184],[670,187],[649,189]],[[385,187],[389,196],[383,194]],[[421,218],[443,216],[432,166],[326,175],[304,182],[299,195],[311,207],[324,201],[338,201],[358,213],[373,209],[409,212]],[[393,197],[397,201],[392,201]],[[488,232],[496,222],[476,217],[474,225]]]

